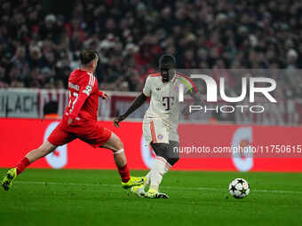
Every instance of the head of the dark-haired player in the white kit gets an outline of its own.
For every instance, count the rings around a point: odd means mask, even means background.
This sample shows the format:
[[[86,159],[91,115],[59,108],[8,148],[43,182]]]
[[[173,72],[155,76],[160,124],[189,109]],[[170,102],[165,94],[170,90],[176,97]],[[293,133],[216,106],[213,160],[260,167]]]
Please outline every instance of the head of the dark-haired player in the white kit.
[[[163,82],[169,82],[174,76],[176,65],[175,57],[169,54],[164,54],[159,58],[159,69],[161,70]]]

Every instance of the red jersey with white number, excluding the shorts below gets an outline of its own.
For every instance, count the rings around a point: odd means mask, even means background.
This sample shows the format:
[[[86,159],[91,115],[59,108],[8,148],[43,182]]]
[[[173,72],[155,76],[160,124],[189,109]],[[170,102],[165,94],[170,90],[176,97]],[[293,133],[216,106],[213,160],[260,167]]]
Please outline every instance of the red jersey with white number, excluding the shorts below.
[[[71,125],[97,121],[101,95],[98,81],[93,74],[81,69],[74,70],[68,78],[68,106],[62,124],[66,126],[68,118],[73,120]]]

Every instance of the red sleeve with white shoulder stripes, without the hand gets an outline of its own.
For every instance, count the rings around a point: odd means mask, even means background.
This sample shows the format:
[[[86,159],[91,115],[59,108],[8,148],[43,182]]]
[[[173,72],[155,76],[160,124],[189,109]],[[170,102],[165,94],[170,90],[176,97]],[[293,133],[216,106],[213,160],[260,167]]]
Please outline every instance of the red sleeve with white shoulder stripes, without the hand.
[[[80,112],[83,103],[85,102],[86,98],[90,96],[91,91],[94,87],[94,83],[96,81],[96,78],[89,74],[89,76],[85,76],[80,82],[80,90],[78,92],[78,96],[75,100],[75,105],[71,109],[69,113],[69,118],[74,120],[78,113]]]

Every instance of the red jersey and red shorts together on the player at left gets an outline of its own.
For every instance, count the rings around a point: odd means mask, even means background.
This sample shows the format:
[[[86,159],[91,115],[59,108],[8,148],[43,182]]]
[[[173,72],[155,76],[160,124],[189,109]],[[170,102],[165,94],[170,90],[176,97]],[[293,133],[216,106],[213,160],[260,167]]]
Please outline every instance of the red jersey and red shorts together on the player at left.
[[[111,131],[104,128],[98,119],[99,91],[93,74],[76,69],[68,79],[68,105],[59,126],[52,131],[48,142],[60,146],[76,138],[98,148],[111,137]],[[68,125],[68,119],[72,119]]]

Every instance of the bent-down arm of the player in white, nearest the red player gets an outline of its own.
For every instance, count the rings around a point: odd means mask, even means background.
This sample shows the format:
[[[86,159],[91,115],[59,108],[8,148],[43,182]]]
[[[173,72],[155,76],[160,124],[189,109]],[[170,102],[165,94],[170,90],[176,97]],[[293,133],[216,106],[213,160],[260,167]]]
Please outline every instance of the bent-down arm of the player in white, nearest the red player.
[[[150,79],[149,77],[147,77],[147,80],[145,82],[145,87],[144,90],[142,91],[142,93],[136,97],[133,102],[131,103],[130,107],[127,109],[126,113],[124,113],[123,115],[118,116],[114,123],[115,123],[115,127],[119,127],[119,122],[123,121],[124,119],[126,119],[131,113],[135,112],[141,105],[143,105],[145,103],[145,101],[147,100],[147,97],[151,96],[151,87],[150,87]]]

